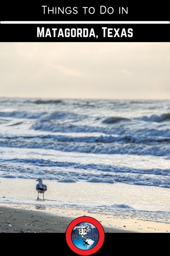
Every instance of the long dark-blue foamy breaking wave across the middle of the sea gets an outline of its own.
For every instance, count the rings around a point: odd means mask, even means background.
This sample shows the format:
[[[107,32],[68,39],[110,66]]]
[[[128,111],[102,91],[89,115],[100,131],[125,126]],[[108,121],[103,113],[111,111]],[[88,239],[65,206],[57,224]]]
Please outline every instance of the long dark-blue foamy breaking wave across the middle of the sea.
[[[65,152],[94,154],[135,154],[168,156],[169,138],[146,138],[131,136],[87,136],[65,135],[1,136],[0,147],[42,148]]]

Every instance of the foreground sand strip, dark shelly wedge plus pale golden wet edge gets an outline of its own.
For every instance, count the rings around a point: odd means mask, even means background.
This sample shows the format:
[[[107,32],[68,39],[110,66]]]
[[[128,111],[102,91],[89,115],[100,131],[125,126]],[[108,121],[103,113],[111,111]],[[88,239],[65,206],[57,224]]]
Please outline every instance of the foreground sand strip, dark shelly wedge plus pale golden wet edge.
[[[18,207],[18,208],[16,208]],[[33,210],[34,209],[34,210]],[[89,214],[86,211],[41,207],[32,205],[1,204],[0,232],[2,233],[65,233],[69,223],[80,216],[99,220],[105,233],[170,233],[170,224],[137,218]]]

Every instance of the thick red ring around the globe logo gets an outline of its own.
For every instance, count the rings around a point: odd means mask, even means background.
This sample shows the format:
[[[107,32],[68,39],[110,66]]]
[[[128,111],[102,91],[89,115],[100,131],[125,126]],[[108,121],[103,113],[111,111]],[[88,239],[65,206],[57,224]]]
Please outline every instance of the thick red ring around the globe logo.
[[[98,241],[98,243],[96,244],[95,247],[93,247],[89,250],[81,250],[81,249],[77,248],[71,240],[71,232],[72,232],[73,228],[81,222],[88,222],[88,223],[93,224],[98,229],[98,232],[99,232],[99,241]],[[67,244],[70,247],[70,249],[72,251],[74,251],[75,253],[77,253],[79,255],[91,255],[91,254],[97,252],[101,248],[101,246],[104,242],[103,226],[100,224],[100,222],[98,220],[96,220],[92,217],[88,217],[88,216],[78,217],[78,218],[74,219],[73,221],[71,221],[71,223],[67,227],[66,241],[67,241]]]

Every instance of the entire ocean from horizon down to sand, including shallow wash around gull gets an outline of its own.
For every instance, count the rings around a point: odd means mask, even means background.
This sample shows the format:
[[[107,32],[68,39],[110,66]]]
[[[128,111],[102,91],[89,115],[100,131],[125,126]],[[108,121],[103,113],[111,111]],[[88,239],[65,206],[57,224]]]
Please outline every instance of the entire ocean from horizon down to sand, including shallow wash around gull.
[[[0,98],[0,202],[35,204],[3,178],[52,180],[42,205],[168,222],[170,100]]]

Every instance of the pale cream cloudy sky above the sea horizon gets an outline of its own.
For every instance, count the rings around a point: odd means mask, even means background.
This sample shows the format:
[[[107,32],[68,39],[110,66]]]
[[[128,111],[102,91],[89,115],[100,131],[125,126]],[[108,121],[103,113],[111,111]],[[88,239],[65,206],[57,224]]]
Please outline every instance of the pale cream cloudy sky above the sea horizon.
[[[170,42],[0,43],[0,97],[170,99]]]

